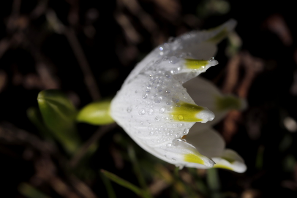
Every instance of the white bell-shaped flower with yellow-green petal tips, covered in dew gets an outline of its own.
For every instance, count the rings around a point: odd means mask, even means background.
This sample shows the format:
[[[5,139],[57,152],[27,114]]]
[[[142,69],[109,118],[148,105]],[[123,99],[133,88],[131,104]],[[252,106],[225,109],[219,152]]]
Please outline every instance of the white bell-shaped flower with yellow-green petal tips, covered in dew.
[[[132,70],[111,102],[110,115],[140,147],[179,167],[245,170],[241,157],[226,150],[222,138],[206,123],[214,119],[214,113],[198,106],[215,107],[216,100],[222,102],[226,97],[200,79],[196,105],[183,87],[186,81],[218,64],[209,57],[216,53],[216,43],[235,25],[236,21],[229,20],[211,31],[181,35],[158,46]],[[228,107],[212,110],[222,117]],[[197,132],[188,134],[196,122],[205,126],[198,126]],[[186,135],[187,141],[183,138]],[[238,164],[244,168],[236,169]]]

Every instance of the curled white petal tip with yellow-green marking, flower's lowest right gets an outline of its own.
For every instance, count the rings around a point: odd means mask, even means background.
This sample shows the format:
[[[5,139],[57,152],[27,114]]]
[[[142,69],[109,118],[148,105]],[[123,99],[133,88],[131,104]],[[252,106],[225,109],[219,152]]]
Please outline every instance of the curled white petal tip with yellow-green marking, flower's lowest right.
[[[247,166],[244,164],[241,156],[231,149],[226,149],[221,157],[214,157],[212,160],[216,163],[214,168],[223,168],[239,173],[247,170]]]

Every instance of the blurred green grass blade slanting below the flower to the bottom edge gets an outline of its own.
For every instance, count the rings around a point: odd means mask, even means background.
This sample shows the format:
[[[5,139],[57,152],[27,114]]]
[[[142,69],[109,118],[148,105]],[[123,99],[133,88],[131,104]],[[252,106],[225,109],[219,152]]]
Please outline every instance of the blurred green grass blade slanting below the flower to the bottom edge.
[[[133,191],[135,194],[137,194],[140,197],[145,197],[145,198],[150,198],[151,196],[149,196],[146,191],[140,189],[139,187],[135,186],[134,184],[128,182],[127,180],[124,180],[122,178],[120,178],[119,176],[108,172],[106,170],[101,169],[101,172],[103,173],[103,175],[105,175],[107,178],[109,178],[110,180],[116,182],[117,184]]]

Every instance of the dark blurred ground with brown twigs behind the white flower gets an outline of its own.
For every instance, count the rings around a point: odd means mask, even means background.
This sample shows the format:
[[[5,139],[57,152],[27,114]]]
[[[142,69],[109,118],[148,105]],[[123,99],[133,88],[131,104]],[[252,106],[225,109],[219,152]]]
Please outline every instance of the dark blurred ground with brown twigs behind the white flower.
[[[135,149],[150,189],[158,180],[156,164],[176,176],[173,165],[143,151],[120,127],[82,123],[81,140],[98,133],[91,141],[98,146],[69,168],[72,156],[55,140],[47,140],[26,111],[37,107],[37,94],[44,89],[64,91],[77,108],[112,98],[135,64],[169,37],[234,18],[238,37],[219,44],[219,65],[203,76],[224,93],[248,101],[247,110],[231,112],[216,126],[248,169],[243,174],[218,170],[217,189],[209,185],[204,170],[185,168],[175,180],[198,197],[296,197],[297,28],[296,10],[289,2],[1,1],[0,196],[34,197],[26,193],[29,188],[49,197],[107,197],[101,169],[139,186],[127,145]],[[234,47],[230,40],[236,38],[241,42]],[[230,47],[232,52],[226,50]],[[194,196],[177,190],[175,181],[159,180],[167,186],[154,189],[154,197]],[[118,197],[137,197],[118,184],[112,186]]]

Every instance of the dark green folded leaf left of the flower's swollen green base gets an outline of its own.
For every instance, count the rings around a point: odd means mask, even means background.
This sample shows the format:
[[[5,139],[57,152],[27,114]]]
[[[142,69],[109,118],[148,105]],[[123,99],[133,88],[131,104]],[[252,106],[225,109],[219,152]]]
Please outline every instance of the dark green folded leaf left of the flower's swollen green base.
[[[53,136],[73,153],[80,144],[75,118],[77,111],[65,94],[59,90],[44,90],[37,97],[45,126]]]

